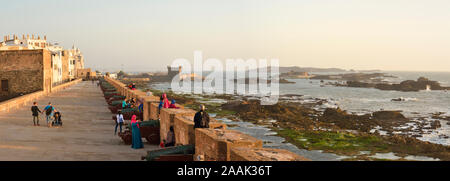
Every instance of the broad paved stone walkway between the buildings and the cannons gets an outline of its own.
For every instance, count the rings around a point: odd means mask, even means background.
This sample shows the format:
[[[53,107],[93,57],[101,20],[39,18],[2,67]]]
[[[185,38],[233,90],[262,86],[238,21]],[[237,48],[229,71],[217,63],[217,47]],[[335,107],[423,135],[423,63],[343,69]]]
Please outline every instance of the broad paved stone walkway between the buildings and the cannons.
[[[40,127],[33,126],[27,105],[9,113],[0,113],[0,161],[9,160],[135,160],[139,161],[148,145],[135,150],[114,135],[114,121],[97,85],[81,82],[39,99],[43,110],[48,102],[62,114],[62,128],[47,128],[44,116]]]

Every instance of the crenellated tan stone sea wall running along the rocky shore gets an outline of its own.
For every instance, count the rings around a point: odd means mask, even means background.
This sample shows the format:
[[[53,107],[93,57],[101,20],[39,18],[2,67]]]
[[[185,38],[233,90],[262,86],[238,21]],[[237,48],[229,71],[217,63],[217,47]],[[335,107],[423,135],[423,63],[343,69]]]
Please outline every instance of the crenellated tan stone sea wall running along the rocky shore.
[[[195,145],[196,161],[306,161],[287,150],[263,148],[262,140],[240,131],[228,130],[224,123],[211,118],[210,128],[194,130],[195,110],[161,109],[159,97],[146,96],[140,90],[131,90],[118,80],[105,77],[121,95],[144,100],[144,120],[160,121],[160,138],[164,140],[170,126],[174,127],[177,145]]]

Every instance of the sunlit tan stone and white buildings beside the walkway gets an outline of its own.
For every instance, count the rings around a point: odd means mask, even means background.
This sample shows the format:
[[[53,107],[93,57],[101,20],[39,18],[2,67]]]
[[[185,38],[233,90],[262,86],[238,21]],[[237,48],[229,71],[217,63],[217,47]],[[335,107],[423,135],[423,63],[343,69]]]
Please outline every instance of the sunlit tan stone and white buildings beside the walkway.
[[[79,48],[73,46],[64,50],[56,43],[47,42],[46,36],[8,35],[0,42],[2,97],[40,90],[51,92],[53,86],[81,78],[77,72],[84,69],[84,57]]]

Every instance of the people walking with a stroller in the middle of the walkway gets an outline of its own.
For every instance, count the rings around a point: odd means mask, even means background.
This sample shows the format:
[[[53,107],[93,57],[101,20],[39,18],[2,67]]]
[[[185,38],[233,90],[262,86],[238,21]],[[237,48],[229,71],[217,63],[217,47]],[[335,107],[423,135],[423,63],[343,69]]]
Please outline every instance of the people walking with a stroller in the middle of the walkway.
[[[62,126],[61,112],[56,110],[55,107],[52,106],[51,102],[49,102],[48,105],[45,106],[43,111],[39,109],[37,102],[33,102],[33,106],[31,106],[31,112],[33,115],[34,126],[40,126],[39,114],[44,113],[46,116],[47,127]]]

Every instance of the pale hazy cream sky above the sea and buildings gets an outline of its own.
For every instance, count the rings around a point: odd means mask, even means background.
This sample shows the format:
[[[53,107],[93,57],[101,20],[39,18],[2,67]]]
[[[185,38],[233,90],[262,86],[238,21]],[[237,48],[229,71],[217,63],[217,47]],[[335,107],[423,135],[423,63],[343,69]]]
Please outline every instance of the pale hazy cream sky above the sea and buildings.
[[[450,71],[448,0],[0,0],[0,34],[76,44],[98,70],[176,58]],[[3,39],[2,39],[3,40]]]

